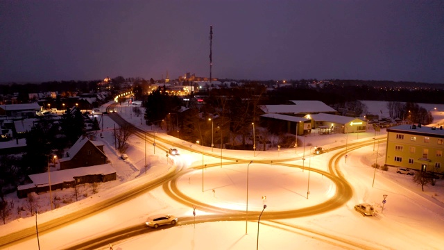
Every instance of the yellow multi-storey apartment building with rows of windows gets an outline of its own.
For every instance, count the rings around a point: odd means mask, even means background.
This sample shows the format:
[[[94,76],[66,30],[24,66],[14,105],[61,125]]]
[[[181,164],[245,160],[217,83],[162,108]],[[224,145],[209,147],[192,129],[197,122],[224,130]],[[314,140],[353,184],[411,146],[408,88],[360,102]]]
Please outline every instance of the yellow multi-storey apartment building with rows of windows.
[[[444,130],[404,124],[387,128],[386,165],[444,173]]]

